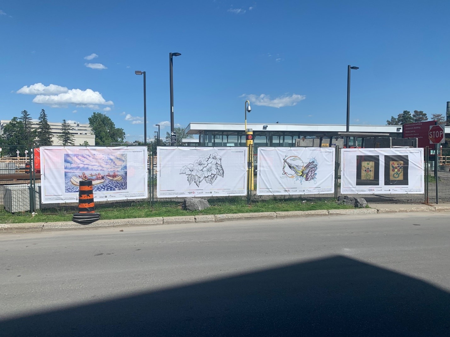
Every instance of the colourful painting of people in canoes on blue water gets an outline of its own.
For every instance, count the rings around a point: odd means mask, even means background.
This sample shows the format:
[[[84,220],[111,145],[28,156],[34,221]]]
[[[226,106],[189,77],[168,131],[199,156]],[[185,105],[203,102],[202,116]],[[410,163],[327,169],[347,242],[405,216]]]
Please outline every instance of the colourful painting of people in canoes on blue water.
[[[92,181],[94,192],[127,189],[127,154],[99,152],[64,154],[66,193],[78,192],[83,178]]]

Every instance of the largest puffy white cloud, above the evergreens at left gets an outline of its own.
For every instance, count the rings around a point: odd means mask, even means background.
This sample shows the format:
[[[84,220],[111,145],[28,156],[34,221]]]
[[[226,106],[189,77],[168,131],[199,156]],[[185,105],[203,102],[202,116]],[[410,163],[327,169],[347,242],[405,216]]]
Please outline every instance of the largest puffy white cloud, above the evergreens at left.
[[[113,105],[112,101],[106,101],[102,94],[92,89],[70,89],[67,93],[58,95],[37,95],[33,103],[47,104],[50,106],[66,106],[76,104],[77,106],[98,109],[98,105]]]

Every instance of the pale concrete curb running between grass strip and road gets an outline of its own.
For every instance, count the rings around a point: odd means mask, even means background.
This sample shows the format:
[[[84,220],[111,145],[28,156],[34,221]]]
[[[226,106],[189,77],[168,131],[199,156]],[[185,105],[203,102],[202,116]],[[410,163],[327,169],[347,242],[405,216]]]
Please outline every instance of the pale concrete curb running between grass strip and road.
[[[389,205],[391,206],[391,205]],[[434,205],[403,205],[390,208],[358,208],[358,209],[330,209],[315,211],[291,211],[291,212],[260,212],[260,213],[236,213],[216,215],[190,215],[183,217],[144,217],[133,219],[99,220],[89,225],[80,225],[75,222],[33,222],[0,224],[1,231],[42,231],[51,229],[76,229],[99,227],[123,227],[123,226],[152,226],[152,225],[176,225],[186,223],[228,222],[238,220],[256,219],[287,219],[294,217],[323,217],[335,215],[361,215],[377,213],[408,213],[408,212],[442,212],[450,211],[450,206]]]

